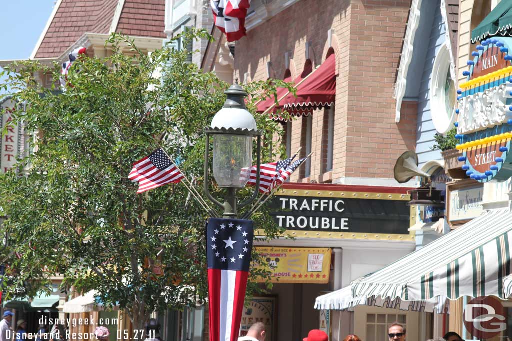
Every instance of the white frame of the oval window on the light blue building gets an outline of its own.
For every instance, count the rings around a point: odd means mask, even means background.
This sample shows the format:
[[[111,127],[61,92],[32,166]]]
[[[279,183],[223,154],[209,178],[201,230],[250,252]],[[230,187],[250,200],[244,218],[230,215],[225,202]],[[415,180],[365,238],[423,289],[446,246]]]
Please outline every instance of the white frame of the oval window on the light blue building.
[[[436,130],[444,134],[451,128],[455,122],[455,106],[451,113],[446,112],[446,98],[445,98],[445,84],[446,75],[450,71],[452,79],[455,81],[455,75],[453,73],[453,67],[450,57],[450,49],[447,46],[447,42],[444,42],[439,49],[439,52],[434,61],[434,67],[432,68],[432,77],[430,81],[430,111],[432,121]],[[456,91],[456,89],[453,89]]]

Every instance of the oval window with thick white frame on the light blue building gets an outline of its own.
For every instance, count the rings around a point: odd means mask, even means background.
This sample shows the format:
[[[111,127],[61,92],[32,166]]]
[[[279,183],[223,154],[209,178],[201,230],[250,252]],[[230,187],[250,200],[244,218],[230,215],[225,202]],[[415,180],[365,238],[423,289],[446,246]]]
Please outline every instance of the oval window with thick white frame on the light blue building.
[[[430,84],[432,121],[436,130],[444,134],[453,127],[457,89],[446,42],[441,46],[434,61]]]

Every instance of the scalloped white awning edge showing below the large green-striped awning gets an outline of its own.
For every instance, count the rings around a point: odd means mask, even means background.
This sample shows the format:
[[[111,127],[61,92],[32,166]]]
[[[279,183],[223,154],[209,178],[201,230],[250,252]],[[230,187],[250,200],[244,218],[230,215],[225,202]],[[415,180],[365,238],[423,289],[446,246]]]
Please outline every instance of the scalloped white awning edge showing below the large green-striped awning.
[[[370,305],[376,307],[399,308],[401,310],[428,311],[438,313],[449,312],[449,300],[444,297],[436,297],[428,301],[402,301],[400,298],[382,299],[382,297],[357,297],[352,296],[350,285],[318,296],[315,301],[316,309],[353,310],[358,305]]]

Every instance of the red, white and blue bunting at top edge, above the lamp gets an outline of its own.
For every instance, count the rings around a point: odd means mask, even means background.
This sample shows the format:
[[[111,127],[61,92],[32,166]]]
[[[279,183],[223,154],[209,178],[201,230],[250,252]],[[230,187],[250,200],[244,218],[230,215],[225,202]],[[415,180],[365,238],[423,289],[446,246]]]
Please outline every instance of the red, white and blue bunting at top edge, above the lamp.
[[[215,26],[221,30],[227,41],[237,41],[245,35],[245,17],[251,0],[210,0],[214,12]]]

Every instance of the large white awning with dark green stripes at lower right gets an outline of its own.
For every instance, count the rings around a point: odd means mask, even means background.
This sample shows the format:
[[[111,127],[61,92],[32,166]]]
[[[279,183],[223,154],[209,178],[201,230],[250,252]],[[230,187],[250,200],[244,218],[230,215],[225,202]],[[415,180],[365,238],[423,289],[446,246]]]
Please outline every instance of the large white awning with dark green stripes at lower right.
[[[354,297],[428,300],[437,296],[505,298],[512,213],[486,211],[423,248],[351,283]]]

